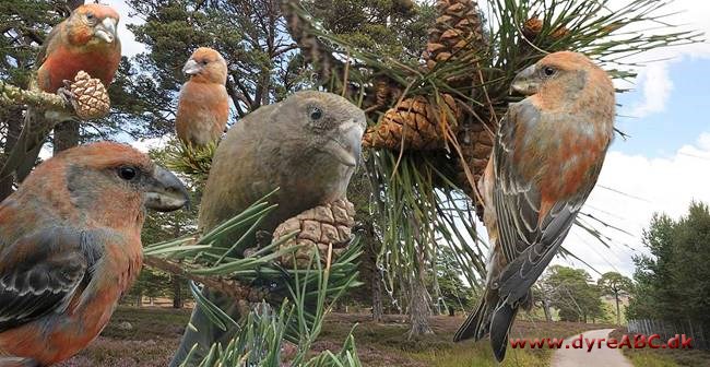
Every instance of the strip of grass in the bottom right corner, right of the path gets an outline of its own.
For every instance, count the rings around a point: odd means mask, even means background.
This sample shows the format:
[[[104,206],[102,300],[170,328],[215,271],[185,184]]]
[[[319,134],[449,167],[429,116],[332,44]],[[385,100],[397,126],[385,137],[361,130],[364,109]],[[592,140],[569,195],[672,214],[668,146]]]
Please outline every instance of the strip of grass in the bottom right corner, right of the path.
[[[620,340],[624,334],[628,334],[626,328],[615,330],[610,336]],[[710,367],[710,351],[626,347],[622,351],[635,367]]]

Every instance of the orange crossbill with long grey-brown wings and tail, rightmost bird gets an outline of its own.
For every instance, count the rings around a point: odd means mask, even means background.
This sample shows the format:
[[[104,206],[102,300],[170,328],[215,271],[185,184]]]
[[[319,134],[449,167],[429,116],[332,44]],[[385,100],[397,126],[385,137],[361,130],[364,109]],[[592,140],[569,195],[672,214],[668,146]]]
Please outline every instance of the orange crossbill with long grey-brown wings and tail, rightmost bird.
[[[454,341],[490,334],[495,357],[506,354],[520,306],[555,257],[592,191],[614,134],[614,86],[585,56],[547,55],[524,69],[478,182],[492,254],[486,289]]]

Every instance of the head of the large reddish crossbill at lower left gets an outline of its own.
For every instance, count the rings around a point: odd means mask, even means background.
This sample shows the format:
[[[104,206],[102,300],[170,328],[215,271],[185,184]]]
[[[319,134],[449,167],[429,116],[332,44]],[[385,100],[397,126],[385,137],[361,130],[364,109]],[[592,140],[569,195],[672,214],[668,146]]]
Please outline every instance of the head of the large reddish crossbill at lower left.
[[[20,190],[105,225],[142,224],[144,209],[178,210],[188,191],[171,173],[130,145],[98,142],[61,152],[40,164]]]

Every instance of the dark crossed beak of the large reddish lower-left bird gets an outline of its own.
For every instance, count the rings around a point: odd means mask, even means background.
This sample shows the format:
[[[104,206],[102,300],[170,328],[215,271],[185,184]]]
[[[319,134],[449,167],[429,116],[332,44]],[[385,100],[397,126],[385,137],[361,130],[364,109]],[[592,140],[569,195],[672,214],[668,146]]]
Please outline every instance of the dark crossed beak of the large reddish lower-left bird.
[[[145,194],[145,206],[158,212],[171,212],[190,206],[190,196],[182,182],[169,170],[155,166],[153,181]]]

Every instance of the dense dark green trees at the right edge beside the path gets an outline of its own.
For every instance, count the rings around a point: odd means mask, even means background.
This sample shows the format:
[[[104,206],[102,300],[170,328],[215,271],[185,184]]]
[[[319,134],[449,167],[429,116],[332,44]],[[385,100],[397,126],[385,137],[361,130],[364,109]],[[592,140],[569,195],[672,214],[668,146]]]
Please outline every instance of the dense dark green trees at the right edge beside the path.
[[[656,214],[643,232],[650,254],[634,259],[629,319],[696,320],[710,325],[710,211],[694,202],[677,221]]]

